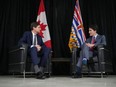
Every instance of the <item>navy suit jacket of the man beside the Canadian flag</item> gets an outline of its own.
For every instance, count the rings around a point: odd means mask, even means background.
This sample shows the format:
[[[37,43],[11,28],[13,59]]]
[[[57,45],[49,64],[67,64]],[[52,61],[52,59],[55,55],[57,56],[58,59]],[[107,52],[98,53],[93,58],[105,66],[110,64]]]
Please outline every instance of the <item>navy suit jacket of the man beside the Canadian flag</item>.
[[[21,46],[22,44],[28,44],[29,47],[32,45],[33,35],[31,31],[26,31],[23,34],[23,37],[19,40],[18,45]],[[42,48],[45,47],[41,36],[37,35],[37,44],[40,45]]]

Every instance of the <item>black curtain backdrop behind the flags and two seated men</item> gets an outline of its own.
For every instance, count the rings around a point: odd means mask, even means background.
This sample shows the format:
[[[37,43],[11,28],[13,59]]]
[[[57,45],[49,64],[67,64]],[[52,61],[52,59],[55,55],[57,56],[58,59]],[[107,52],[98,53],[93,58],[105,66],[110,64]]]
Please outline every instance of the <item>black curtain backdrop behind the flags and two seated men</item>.
[[[75,0],[44,0],[52,40],[53,58],[70,58],[68,41]],[[17,45],[30,23],[36,21],[40,0],[0,0],[0,73],[8,72],[9,48]],[[96,23],[105,34],[116,74],[116,3],[115,0],[80,0],[88,37],[89,24]]]

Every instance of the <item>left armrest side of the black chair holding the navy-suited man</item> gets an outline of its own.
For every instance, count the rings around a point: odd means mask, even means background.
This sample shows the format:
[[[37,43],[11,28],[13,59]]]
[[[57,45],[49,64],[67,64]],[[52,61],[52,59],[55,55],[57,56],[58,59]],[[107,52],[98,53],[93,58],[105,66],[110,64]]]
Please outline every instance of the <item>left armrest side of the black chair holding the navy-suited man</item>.
[[[27,57],[27,46],[13,46],[9,49],[8,71],[9,73],[23,72]]]

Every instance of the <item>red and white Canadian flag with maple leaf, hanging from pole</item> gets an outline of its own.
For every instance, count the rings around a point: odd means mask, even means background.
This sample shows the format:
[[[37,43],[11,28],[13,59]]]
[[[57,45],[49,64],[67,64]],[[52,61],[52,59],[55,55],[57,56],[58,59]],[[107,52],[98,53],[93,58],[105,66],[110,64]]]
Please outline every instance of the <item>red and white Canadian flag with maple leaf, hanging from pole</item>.
[[[48,28],[48,24],[47,24],[43,0],[41,0],[40,6],[38,9],[37,22],[40,24],[40,27],[41,27],[41,31],[40,31],[39,35],[42,37],[44,44],[48,48],[51,48],[51,38],[50,38],[49,28]]]

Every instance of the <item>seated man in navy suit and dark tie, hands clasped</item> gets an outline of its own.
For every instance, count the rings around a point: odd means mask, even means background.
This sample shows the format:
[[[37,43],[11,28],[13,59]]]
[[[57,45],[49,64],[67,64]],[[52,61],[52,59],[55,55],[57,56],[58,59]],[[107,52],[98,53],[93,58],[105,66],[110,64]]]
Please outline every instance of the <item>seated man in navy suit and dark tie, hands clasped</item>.
[[[44,45],[39,32],[40,25],[37,22],[31,23],[31,31],[26,31],[23,37],[19,40],[19,46],[22,44],[28,45],[28,54],[31,56],[34,70],[38,79],[44,79],[43,69],[46,66],[49,49]]]

